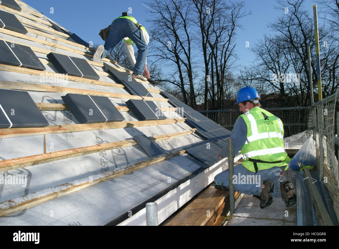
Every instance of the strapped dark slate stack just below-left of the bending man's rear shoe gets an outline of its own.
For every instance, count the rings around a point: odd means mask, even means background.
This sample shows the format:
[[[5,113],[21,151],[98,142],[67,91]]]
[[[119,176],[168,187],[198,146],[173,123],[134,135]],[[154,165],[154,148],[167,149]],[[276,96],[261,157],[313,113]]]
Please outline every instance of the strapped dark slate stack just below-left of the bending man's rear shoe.
[[[47,58],[61,74],[68,74],[92,80],[99,80],[100,78],[85,59],[56,53],[49,53]]]

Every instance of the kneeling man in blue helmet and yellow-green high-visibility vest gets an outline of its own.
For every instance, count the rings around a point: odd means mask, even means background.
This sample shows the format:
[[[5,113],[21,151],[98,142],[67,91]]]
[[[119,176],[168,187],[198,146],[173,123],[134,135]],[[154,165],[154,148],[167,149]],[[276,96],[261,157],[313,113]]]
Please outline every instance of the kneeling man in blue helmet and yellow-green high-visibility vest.
[[[281,196],[287,207],[292,206],[296,203],[294,186],[289,181],[280,182],[290,161],[284,149],[283,124],[260,108],[259,98],[252,87],[243,87],[237,93],[235,104],[244,114],[235,122],[231,138],[234,154],[241,150],[244,162],[234,167],[234,189],[259,198],[261,208],[272,204],[272,193]],[[228,146],[219,151],[218,157],[228,157]],[[228,169],[215,176],[215,188],[228,190],[228,184]]]

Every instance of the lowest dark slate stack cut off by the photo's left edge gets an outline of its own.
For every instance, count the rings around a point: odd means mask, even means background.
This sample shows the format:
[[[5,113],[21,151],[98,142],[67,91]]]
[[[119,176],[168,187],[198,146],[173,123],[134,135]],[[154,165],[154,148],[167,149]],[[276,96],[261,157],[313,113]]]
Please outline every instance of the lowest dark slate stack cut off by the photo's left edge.
[[[0,128],[47,125],[48,122],[28,92],[0,89]]]

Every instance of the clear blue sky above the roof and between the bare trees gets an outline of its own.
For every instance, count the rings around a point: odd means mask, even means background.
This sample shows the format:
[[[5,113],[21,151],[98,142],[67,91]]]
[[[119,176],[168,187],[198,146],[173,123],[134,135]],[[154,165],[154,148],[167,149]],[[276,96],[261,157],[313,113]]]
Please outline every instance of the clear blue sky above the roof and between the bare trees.
[[[131,16],[135,17],[146,29],[150,28],[150,13],[148,8],[142,5],[143,1],[137,0],[23,0],[26,4],[42,12],[48,18],[77,34],[83,40],[93,43],[103,44],[99,34],[100,29],[111,24],[112,20],[120,16],[123,11],[132,8]],[[246,41],[250,47],[263,37],[263,34],[270,30],[267,28],[268,22],[284,14],[284,10],[277,10],[278,6],[274,0],[245,0],[246,11],[252,14],[241,20],[243,29],[237,30],[236,50],[239,56],[237,64],[239,66],[249,65],[254,60],[253,53],[245,46]],[[306,0],[304,6],[312,13],[312,0]],[[51,14],[53,7],[53,14]],[[156,14],[151,14],[156,15]]]

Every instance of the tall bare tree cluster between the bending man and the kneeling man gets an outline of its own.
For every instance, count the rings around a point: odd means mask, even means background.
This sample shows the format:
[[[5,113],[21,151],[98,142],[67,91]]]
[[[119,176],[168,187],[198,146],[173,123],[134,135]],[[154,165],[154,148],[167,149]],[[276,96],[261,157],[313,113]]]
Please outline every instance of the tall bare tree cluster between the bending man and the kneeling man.
[[[154,16],[150,52],[155,62],[172,68],[162,82],[180,90],[183,102],[193,108],[197,100],[203,101],[205,110],[209,100],[213,108],[223,107],[224,89],[231,82],[226,76],[235,58],[235,29],[248,14],[243,11],[244,2],[155,0],[148,5]],[[196,81],[201,72],[203,85]]]

